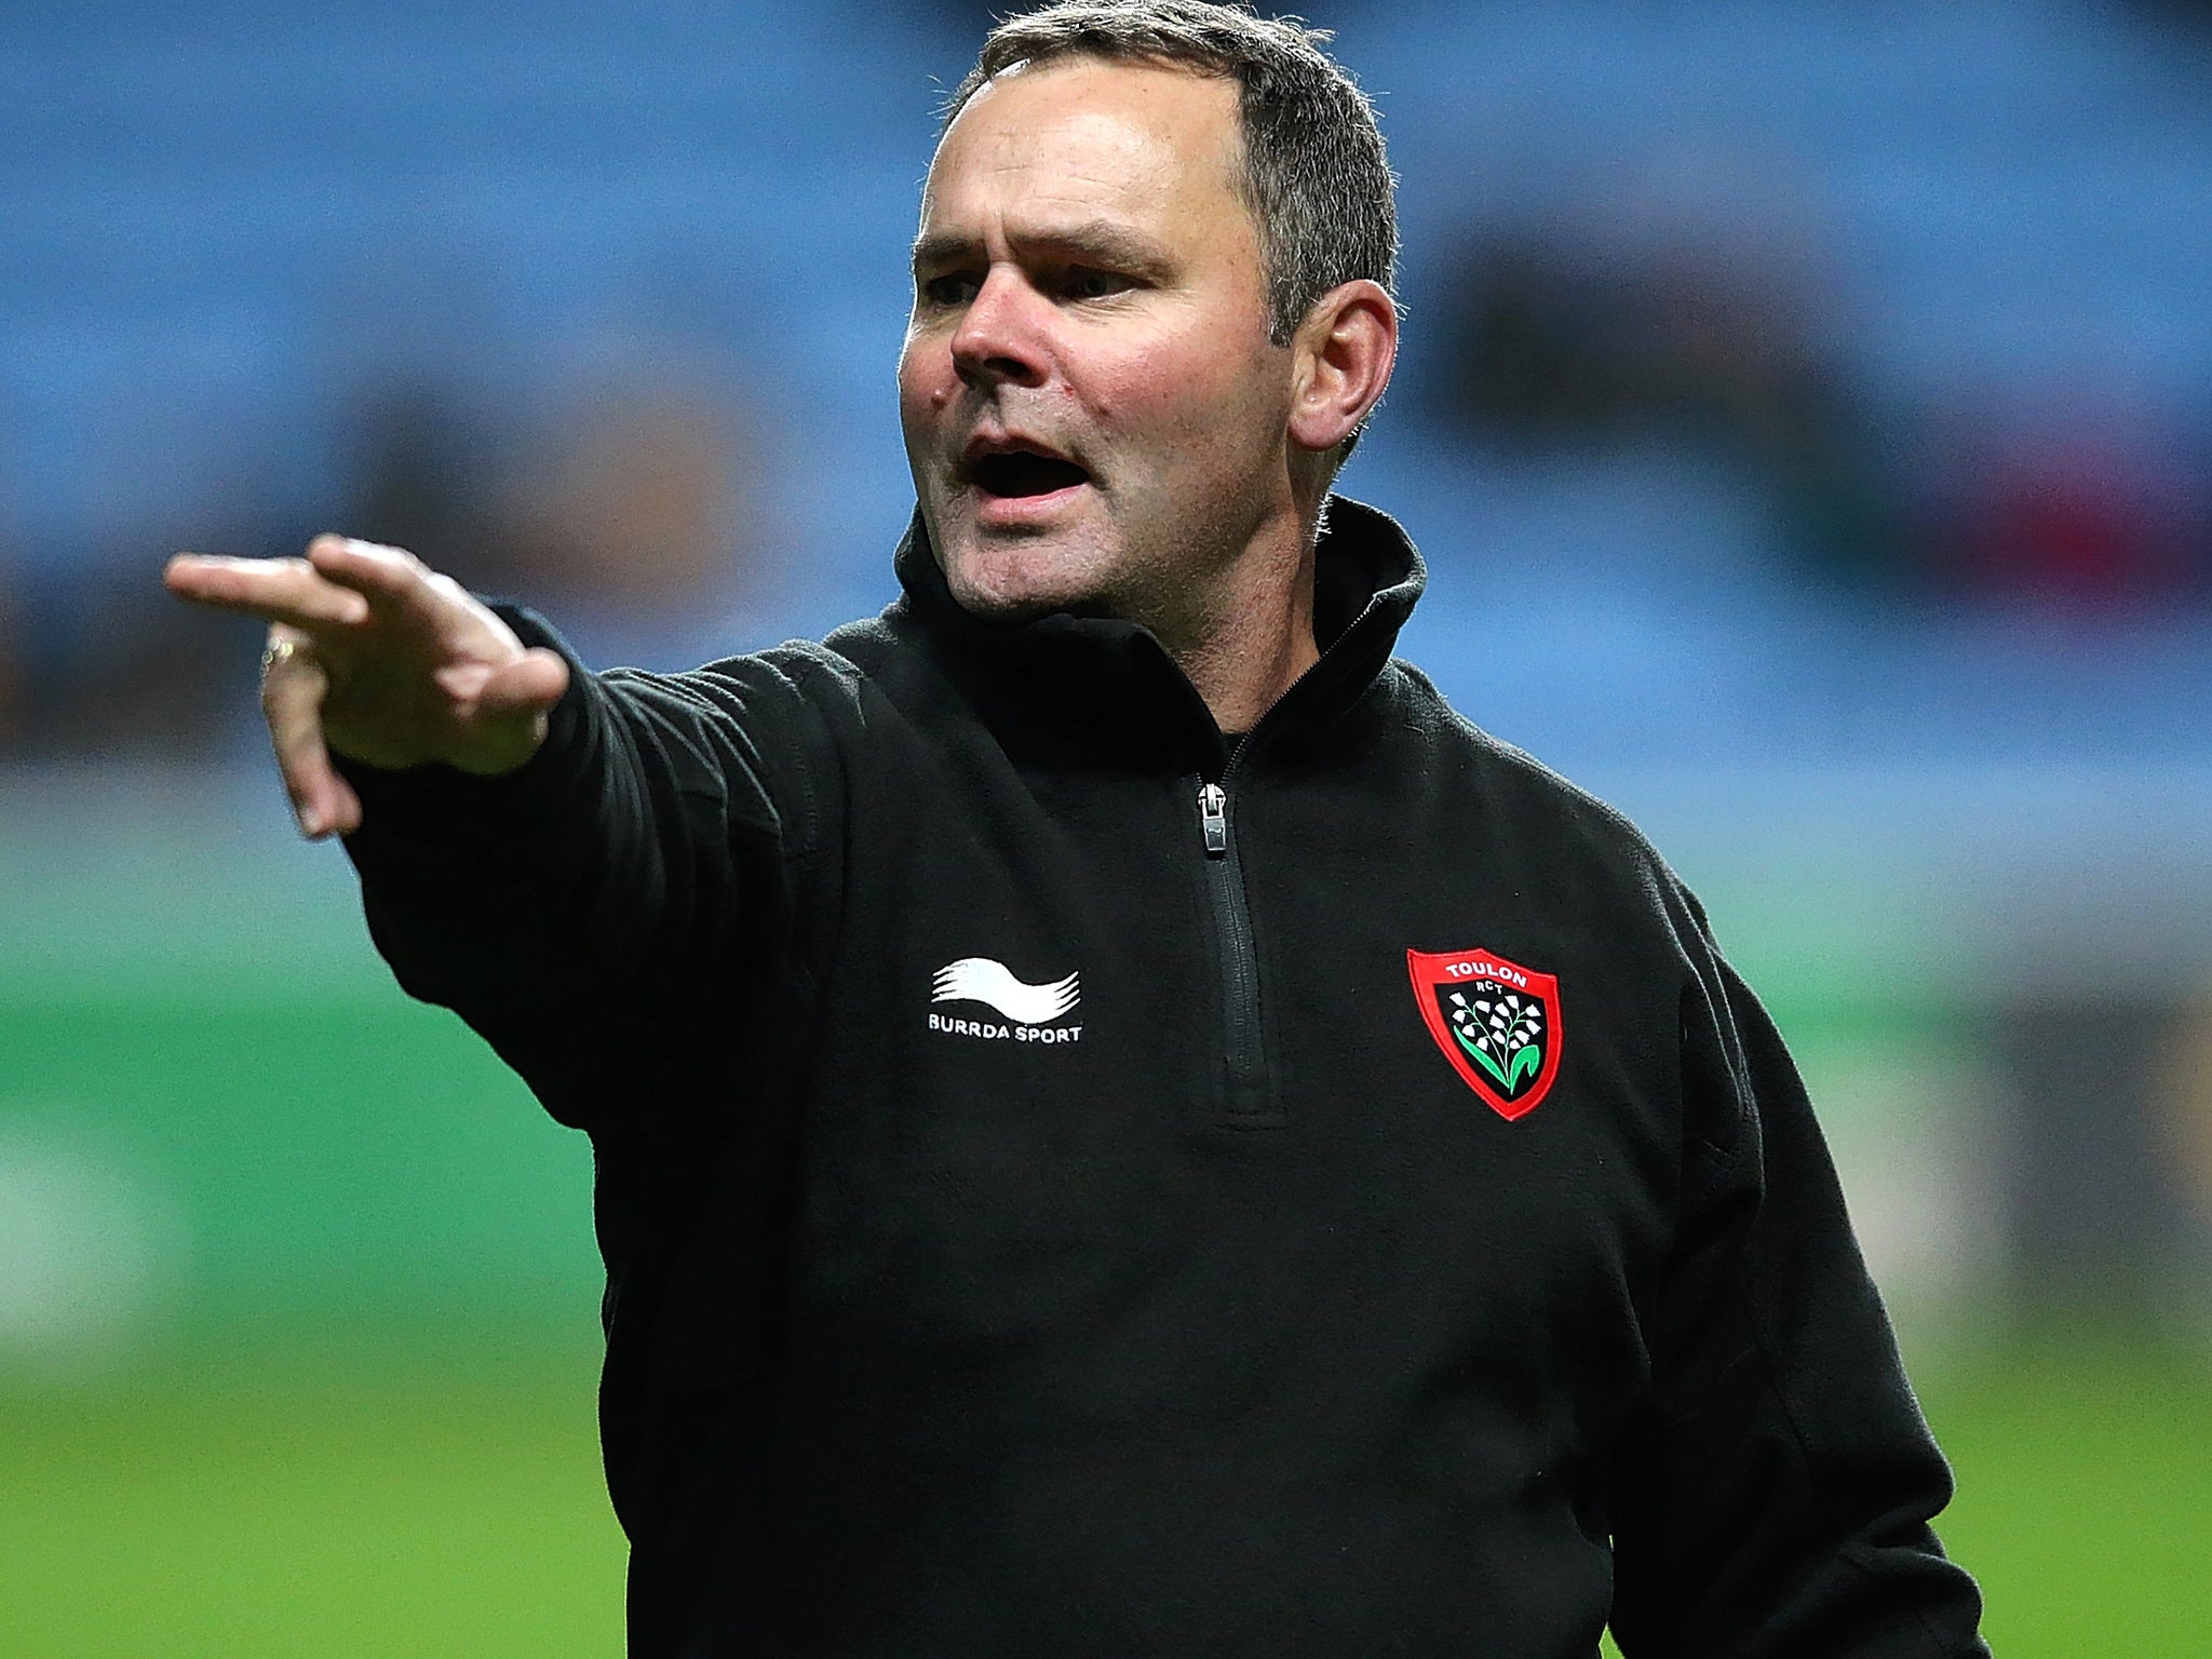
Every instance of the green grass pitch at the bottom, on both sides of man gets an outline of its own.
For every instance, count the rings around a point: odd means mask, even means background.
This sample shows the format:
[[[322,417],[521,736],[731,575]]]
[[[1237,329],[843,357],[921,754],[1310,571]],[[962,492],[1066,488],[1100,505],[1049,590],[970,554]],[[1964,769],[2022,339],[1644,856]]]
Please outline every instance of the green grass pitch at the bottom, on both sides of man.
[[[2004,1659],[2197,1650],[2212,1374],[2124,1345],[1924,1365]],[[593,1356],[195,1360],[0,1398],[7,1659],[622,1652]]]

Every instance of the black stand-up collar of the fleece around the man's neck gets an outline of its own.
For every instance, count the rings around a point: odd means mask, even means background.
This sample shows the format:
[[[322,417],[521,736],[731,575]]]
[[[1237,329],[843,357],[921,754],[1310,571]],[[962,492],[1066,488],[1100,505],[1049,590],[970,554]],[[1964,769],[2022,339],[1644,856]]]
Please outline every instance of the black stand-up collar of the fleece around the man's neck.
[[[987,714],[1071,721],[1113,750],[1219,776],[1228,739],[1206,699],[1159,639],[1135,622],[1055,611],[998,622],[960,608],[920,511],[896,555],[902,597],[885,613],[918,630],[980,692]],[[1398,630],[1427,584],[1427,566],[1389,513],[1332,495],[1314,557],[1314,635],[1321,659],[1254,728],[1314,730],[1354,701],[1389,661]]]

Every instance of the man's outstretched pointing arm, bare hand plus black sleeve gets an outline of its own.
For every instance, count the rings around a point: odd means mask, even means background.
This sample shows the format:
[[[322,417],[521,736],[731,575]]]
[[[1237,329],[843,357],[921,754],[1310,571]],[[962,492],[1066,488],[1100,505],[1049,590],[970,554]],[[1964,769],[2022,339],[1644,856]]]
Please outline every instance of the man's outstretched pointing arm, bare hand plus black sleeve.
[[[591,675],[526,613],[338,535],[179,555],[168,586],[270,624],[261,703],[301,830],[345,836],[400,987],[562,1121],[677,1110],[677,1062],[712,1066],[790,980],[794,869],[827,867],[807,854],[836,807],[827,730],[779,664]],[[710,1042],[672,1035],[699,1022]]]

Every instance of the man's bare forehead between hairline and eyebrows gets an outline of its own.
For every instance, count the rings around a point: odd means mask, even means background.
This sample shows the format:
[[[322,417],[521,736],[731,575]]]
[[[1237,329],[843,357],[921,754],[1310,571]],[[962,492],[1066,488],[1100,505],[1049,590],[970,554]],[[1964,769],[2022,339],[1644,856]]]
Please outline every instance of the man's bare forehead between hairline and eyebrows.
[[[922,219],[1055,206],[1212,210],[1243,168],[1237,84],[1064,58],[984,84],[938,144]]]

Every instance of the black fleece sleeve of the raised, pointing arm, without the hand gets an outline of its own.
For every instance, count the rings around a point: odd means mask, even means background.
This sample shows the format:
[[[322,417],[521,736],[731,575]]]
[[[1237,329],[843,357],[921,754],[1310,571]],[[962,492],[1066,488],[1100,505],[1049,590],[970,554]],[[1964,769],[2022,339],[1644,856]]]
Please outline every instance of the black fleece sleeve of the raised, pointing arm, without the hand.
[[[794,860],[821,834],[821,743],[765,659],[593,675],[531,613],[502,615],[568,657],[538,754],[500,779],[343,763],[363,801],[345,847],[400,987],[595,1128],[695,1095],[677,1073],[717,1044],[686,1035],[774,987]]]

